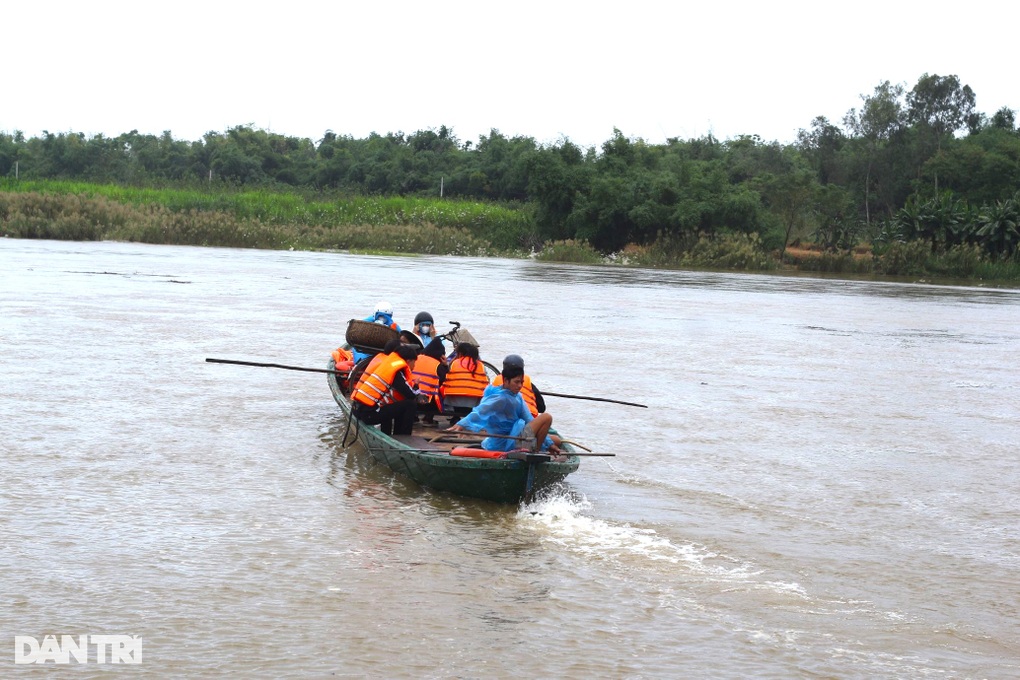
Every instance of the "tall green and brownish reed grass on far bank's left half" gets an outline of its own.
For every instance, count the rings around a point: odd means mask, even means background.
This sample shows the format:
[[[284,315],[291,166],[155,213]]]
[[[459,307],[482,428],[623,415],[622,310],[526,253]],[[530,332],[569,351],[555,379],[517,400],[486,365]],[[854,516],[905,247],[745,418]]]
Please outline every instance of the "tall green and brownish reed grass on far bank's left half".
[[[532,231],[526,210],[463,201],[0,181],[0,232],[26,239],[487,255]]]

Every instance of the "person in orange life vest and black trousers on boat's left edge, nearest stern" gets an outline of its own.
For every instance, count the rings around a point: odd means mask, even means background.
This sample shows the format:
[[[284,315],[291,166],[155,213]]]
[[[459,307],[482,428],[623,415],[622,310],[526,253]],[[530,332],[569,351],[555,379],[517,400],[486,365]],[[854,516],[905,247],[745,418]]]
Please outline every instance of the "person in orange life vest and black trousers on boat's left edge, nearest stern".
[[[351,390],[354,417],[378,425],[384,434],[410,434],[417,409],[413,378],[417,358],[417,348],[400,343],[392,352],[375,355]]]

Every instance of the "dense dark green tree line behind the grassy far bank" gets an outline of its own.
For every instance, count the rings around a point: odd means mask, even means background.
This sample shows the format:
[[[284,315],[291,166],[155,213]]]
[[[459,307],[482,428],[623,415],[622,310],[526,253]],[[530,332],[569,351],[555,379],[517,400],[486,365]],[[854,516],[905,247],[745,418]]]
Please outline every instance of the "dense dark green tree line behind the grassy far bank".
[[[519,202],[540,241],[691,248],[705,236],[757,233],[850,250],[862,241],[1020,248],[1020,132],[988,116],[956,75],[885,82],[839,123],[815,118],[793,144],[757,136],[648,144],[615,130],[601,148],[539,144],[498,130],[476,142],[448,127],[321,140],[240,125],[198,141],[137,130],[115,138],[0,133],[0,175],[138,186],[284,186],[340,196]],[[840,124],[842,123],[842,124]],[[523,245],[523,244],[522,244]]]

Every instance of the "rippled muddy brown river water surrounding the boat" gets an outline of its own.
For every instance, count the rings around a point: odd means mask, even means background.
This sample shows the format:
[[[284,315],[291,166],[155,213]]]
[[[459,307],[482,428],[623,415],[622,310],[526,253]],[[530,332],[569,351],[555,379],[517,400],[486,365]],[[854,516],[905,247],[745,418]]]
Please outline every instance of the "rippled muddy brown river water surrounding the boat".
[[[6,239],[0,277],[4,676],[50,634],[154,677],[1020,675],[1020,292]],[[324,375],[205,362],[319,368],[379,299],[650,408],[548,398],[617,456],[502,507],[345,452]]]

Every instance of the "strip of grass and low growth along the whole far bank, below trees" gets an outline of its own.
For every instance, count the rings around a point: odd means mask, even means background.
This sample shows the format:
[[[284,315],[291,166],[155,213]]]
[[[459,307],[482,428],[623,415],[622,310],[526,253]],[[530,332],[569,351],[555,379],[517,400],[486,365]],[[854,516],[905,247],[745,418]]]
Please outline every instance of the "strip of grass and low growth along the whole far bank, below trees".
[[[268,191],[142,189],[75,181],[0,179],[0,236],[135,241],[233,248],[362,253],[522,256],[660,268],[765,271],[779,267],[847,274],[1020,281],[1020,263],[992,262],[976,247],[933,254],[891,244],[881,254],[789,253],[780,262],[756,234],[668,236],[609,257],[583,241],[543,243],[527,206],[400,197],[328,198]]]

